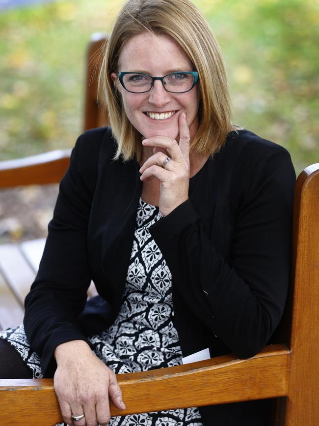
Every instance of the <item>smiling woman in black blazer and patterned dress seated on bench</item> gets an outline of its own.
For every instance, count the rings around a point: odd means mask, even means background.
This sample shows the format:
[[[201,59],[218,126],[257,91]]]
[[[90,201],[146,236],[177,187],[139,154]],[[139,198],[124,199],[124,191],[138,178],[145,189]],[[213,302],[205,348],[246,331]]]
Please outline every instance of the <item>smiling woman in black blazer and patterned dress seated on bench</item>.
[[[26,298],[27,337],[1,335],[11,359],[24,358],[20,376],[54,374],[63,419],[77,426],[108,423],[108,394],[124,407],[114,372],[208,347],[256,354],[289,279],[290,156],[232,124],[222,56],[198,10],[128,1],[100,82],[111,129],[78,139]],[[84,309],[91,279],[101,298]],[[111,424],[256,426],[268,411],[250,401]]]

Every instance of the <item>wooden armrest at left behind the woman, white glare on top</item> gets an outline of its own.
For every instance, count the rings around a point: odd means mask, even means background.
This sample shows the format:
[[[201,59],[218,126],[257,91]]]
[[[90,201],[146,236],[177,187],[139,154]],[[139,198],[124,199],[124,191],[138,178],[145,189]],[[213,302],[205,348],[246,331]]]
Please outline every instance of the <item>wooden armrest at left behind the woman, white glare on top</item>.
[[[0,187],[58,183],[70,163],[71,150],[56,150],[0,162]]]

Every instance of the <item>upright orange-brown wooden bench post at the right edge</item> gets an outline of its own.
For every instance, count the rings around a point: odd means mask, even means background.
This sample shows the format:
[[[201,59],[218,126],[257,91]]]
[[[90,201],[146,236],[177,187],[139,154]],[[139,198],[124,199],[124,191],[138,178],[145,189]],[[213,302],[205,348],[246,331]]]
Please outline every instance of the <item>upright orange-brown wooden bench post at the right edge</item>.
[[[291,362],[285,426],[319,425],[319,164],[298,177],[293,218]]]

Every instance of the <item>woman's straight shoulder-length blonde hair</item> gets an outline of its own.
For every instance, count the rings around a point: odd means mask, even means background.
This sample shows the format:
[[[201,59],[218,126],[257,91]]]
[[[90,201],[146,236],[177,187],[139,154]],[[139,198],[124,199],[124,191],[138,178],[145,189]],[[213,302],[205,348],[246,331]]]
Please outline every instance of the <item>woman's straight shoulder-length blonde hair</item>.
[[[118,72],[125,43],[144,31],[168,34],[183,49],[199,74],[199,127],[190,149],[213,155],[223,145],[231,122],[231,102],[223,57],[207,21],[188,0],[129,0],[120,11],[108,39],[99,76],[112,132],[117,140],[115,158],[141,159],[141,135],[126,116],[111,72]]]

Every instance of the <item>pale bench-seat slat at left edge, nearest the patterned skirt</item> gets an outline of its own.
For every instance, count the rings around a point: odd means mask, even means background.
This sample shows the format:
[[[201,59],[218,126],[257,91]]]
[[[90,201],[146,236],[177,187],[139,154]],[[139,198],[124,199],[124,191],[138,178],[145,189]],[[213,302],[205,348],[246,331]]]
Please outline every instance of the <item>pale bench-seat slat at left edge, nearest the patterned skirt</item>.
[[[0,330],[22,323],[24,310],[0,273]]]

